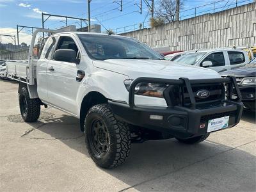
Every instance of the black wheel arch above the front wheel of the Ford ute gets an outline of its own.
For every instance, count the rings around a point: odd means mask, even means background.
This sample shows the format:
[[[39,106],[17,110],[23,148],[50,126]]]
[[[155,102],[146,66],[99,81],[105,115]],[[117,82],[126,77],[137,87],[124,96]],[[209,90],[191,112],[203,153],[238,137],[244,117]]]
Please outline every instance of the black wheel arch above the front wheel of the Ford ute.
[[[84,118],[86,114],[88,113],[89,109],[92,108],[92,106],[95,106],[97,104],[104,104],[108,103],[108,98],[102,95],[100,92],[92,91],[87,93],[81,102],[80,107],[80,129],[81,131],[84,131]]]

